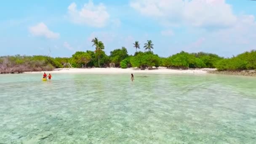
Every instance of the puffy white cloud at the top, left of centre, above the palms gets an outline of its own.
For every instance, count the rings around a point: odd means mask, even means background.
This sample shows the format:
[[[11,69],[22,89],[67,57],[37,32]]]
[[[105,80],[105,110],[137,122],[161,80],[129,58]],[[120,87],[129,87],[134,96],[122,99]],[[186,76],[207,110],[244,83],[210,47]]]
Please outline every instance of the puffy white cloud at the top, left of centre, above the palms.
[[[76,3],[71,3],[68,13],[74,23],[86,24],[91,27],[104,27],[109,20],[109,13],[104,4],[94,5],[91,0],[85,3],[81,10],[77,10]]]

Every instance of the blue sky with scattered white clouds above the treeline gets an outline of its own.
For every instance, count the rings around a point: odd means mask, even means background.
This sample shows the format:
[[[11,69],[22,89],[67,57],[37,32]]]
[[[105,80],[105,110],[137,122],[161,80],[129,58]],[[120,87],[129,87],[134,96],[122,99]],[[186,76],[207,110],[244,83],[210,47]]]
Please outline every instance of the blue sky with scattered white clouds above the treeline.
[[[256,49],[254,0],[3,0],[0,5],[0,56],[70,57],[94,51],[136,49],[135,41],[154,44],[153,52],[180,51],[231,57]]]

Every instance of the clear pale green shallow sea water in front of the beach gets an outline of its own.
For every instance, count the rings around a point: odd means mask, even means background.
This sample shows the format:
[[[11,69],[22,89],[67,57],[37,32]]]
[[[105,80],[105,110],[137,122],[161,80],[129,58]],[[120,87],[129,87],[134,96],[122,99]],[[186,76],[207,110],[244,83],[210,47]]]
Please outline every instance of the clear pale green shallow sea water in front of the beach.
[[[0,75],[1,144],[256,143],[255,77],[41,77]]]

